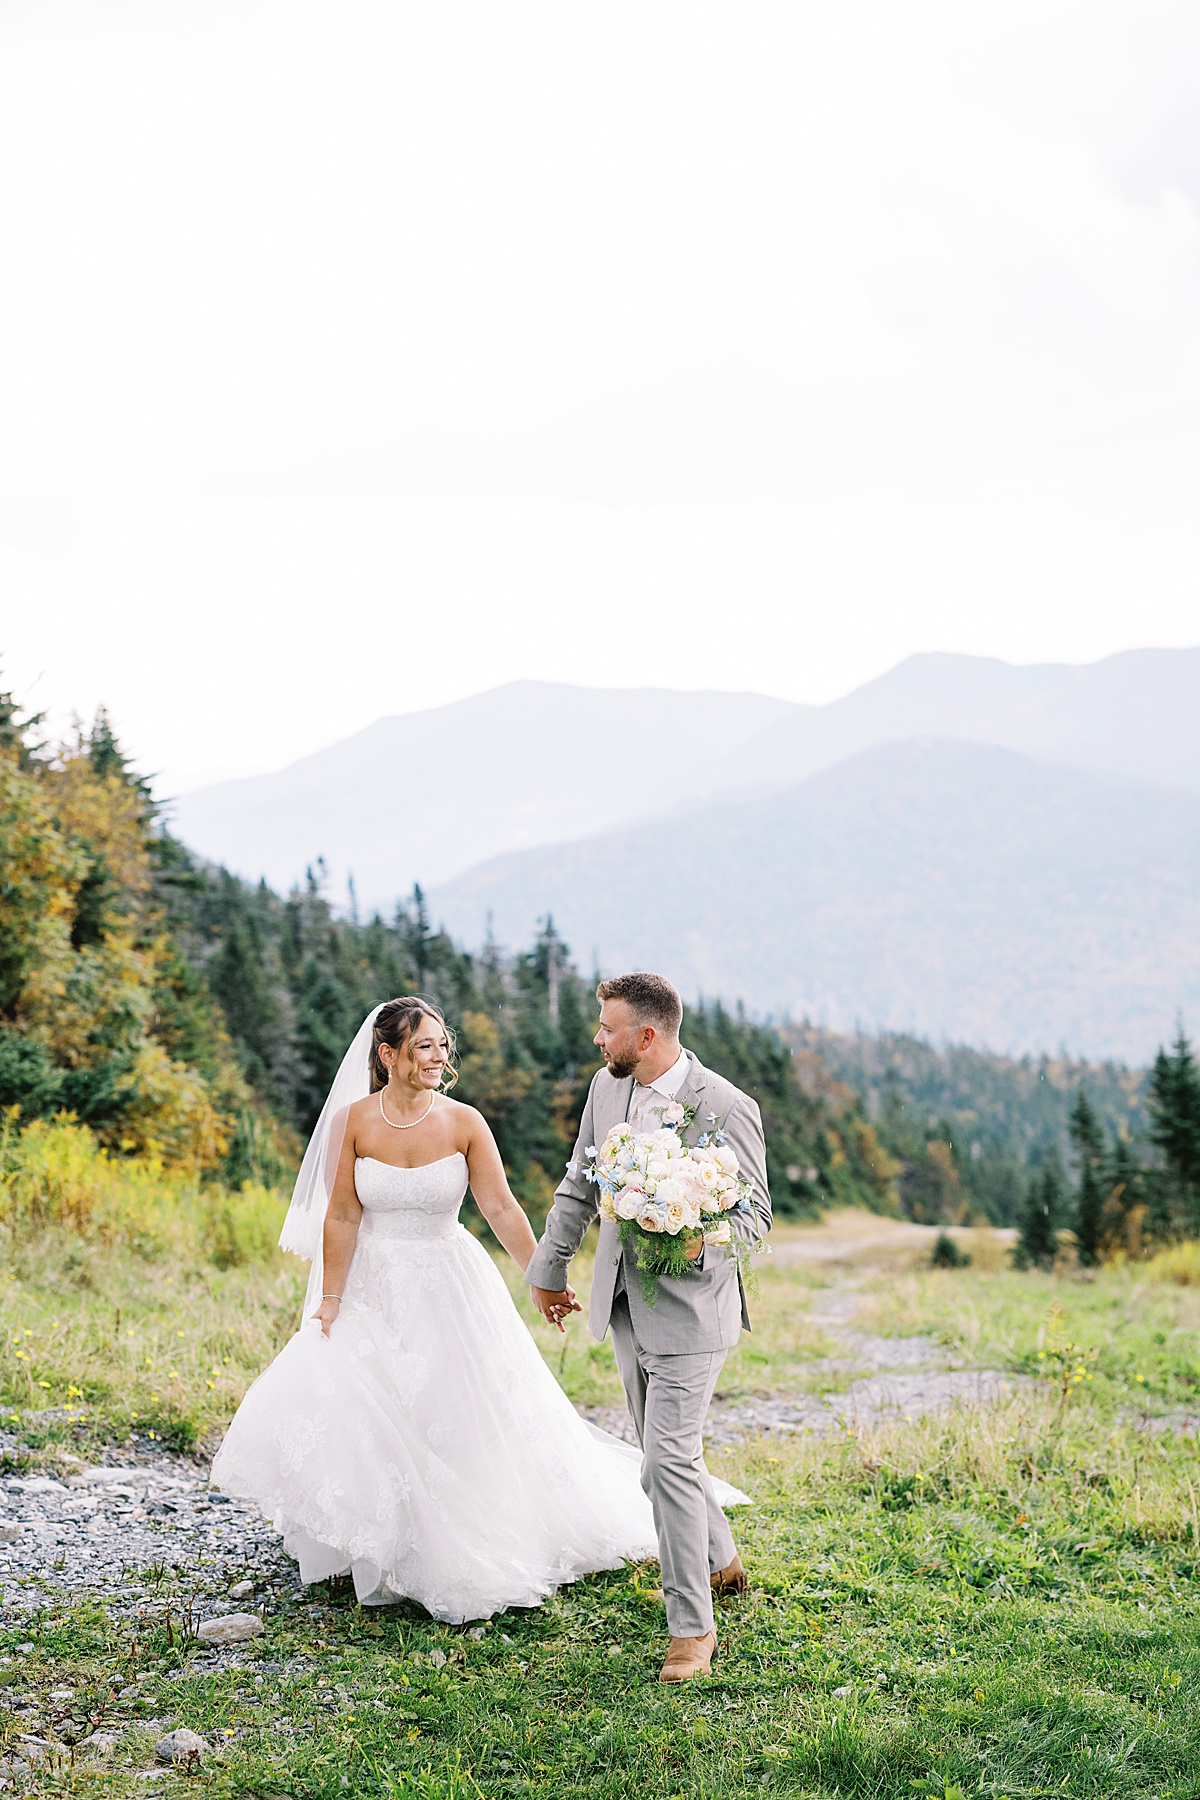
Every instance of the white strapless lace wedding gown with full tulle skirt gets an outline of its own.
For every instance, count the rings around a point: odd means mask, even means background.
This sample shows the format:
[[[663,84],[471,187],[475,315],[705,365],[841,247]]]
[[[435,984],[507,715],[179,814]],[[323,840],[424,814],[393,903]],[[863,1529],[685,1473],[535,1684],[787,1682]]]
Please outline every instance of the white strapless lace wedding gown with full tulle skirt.
[[[408,1597],[461,1624],[657,1555],[640,1456],[587,1426],[464,1226],[461,1154],[360,1157],[362,1224],[326,1337],[308,1319],[259,1375],[212,1481],[282,1532],[306,1582]],[[727,1503],[745,1496],[723,1489]]]

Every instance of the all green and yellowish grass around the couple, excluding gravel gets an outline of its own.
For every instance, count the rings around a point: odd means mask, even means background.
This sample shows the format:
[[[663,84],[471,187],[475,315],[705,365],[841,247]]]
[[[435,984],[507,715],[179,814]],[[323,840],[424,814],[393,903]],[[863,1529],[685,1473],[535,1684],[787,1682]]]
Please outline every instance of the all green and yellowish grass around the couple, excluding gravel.
[[[169,1712],[228,1735],[200,1773],[148,1782],[151,1742],[133,1730],[94,1766],[65,1757],[38,1791],[1200,1796],[1200,1467],[1189,1436],[1153,1429],[1200,1413],[1200,1262],[1085,1280],[1009,1274],[995,1244],[975,1251],[937,1274],[869,1251],[765,1269],[723,1391],[811,1384],[804,1364],[831,1345],[808,1309],[838,1283],[862,1301],[858,1327],[930,1332],[1029,1381],[997,1408],[714,1456],[754,1498],[736,1525],[754,1593],[721,1611],[711,1681],[657,1685],[653,1566],[479,1638],[318,1589],[279,1606],[255,1660],[225,1674],[198,1670],[178,1631],[133,1634],[83,1602],[0,1633],[0,1683],[47,1715],[74,1688],[59,1712],[131,1726]],[[212,1442],[295,1300],[277,1258],[218,1269],[194,1249],[43,1233],[9,1256],[5,1411],[77,1413],[18,1420],[34,1460],[131,1427]],[[615,1399],[610,1354],[578,1321],[565,1346],[538,1332],[574,1397]],[[113,1699],[131,1676],[139,1696]]]

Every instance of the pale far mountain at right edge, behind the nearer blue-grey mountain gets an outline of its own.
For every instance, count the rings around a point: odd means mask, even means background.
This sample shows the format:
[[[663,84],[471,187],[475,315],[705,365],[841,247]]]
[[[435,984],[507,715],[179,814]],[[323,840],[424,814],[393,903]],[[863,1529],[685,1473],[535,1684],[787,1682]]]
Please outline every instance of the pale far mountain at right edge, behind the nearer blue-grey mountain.
[[[1200,650],[1128,650],[1072,668],[918,655],[831,706],[774,720],[709,772],[716,794],[759,769],[793,783],[905,738],[966,738],[1038,761],[1200,794]]]

